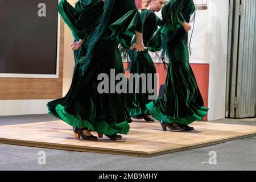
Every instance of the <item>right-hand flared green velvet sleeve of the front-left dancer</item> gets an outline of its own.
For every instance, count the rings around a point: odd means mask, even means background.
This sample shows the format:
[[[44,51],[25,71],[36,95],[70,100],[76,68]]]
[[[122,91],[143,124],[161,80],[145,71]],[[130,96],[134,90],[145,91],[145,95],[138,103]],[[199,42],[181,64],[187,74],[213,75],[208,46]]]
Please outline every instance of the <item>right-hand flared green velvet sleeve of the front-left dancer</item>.
[[[112,39],[117,39],[125,48],[131,47],[131,38],[135,30],[142,32],[141,15],[137,9],[130,10],[110,25]]]

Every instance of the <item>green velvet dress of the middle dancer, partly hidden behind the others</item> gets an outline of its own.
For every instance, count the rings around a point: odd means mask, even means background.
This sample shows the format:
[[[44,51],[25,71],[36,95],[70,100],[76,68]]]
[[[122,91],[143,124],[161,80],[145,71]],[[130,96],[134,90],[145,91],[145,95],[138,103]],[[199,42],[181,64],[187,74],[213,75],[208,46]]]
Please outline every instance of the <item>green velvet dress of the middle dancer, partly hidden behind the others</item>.
[[[158,26],[161,22],[160,18],[155,15],[154,11],[152,10],[142,10],[141,12],[142,17],[142,24],[143,24],[143,43],[144,46],[148,47],[150,51],[155,51],[155,45],[149,46],[148,42],[150,42],[151,38],[153,37],[156,30],[158,30]],[[135,42],[135,39],[133,40]],[[154,74],[156,73],[154,62],[150,54],[148,53],[148,49],[142,52],[136,52],[135,50],[129,51],[129,56],[131,59],[131,67],[130,73],[148,73],[152,74],[152,86],[154,86]],[[134,80],[135,81],[135,80]],[[146,104],[151,102],[152,100],[148,99],[150,93],[147,92],[147,84],[143,84],[141,81],[137,82],[133,88],[141,88],[141,92],[135,93],[135,89],[133,94],[129,94],[128,99],[128,107],[131,117],[139,114],[145,113],[147,107]],[[144,86],[145,88],[142,88]],[[146,93],[142,93],[142,89],[146,90]]]

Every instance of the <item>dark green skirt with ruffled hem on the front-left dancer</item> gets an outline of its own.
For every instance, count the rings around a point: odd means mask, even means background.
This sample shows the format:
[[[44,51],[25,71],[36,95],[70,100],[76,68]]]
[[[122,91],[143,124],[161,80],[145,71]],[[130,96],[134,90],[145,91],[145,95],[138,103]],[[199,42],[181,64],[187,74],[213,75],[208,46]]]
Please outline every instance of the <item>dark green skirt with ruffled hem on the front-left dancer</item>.
[[[110,69],[115,69],[115,75],[125,73],[118,44],[116,40],[100,40],[83,76],[80,64],[76,64],[69,92],[64,98],[48,102],[49,114],[73,127],[87,127],[105,135],[129,132],[132,120],[126,107],[125,94],[100,94],[97,90],[101,82],[97,80],[100,73],[106,73],[109,78]]]

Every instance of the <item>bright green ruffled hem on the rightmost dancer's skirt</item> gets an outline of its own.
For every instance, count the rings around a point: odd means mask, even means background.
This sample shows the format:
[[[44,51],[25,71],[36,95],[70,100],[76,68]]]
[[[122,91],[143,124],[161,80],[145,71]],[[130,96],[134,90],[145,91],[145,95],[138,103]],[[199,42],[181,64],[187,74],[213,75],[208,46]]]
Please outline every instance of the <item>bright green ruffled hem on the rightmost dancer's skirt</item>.
[[[158,121],[164,121],[167,123],[177,123],[180,125],[189,125],[194,121],[202,121],[203,118],[207,115],[208,108],[200,107],[200,110],[197,110],[195,114],[188,116],[187,118],[177,118],[171,117],[170,115],[163,114],[158,107],[154,105],[154,102],[150,102],[146,105],[150,114]]]

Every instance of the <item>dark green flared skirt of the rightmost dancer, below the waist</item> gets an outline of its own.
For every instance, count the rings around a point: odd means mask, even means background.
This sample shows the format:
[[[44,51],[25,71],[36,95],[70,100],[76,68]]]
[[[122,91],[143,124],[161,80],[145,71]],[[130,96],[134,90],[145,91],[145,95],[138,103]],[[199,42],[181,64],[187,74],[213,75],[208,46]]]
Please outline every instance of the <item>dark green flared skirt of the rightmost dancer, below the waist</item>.
[[[202,121],[207,111],[189,65],[187,39],[168,44],[168,72],[164,97],[147,104],[155,119],[167,123],[188,125]]]

